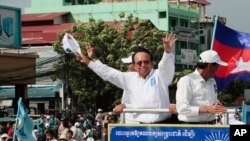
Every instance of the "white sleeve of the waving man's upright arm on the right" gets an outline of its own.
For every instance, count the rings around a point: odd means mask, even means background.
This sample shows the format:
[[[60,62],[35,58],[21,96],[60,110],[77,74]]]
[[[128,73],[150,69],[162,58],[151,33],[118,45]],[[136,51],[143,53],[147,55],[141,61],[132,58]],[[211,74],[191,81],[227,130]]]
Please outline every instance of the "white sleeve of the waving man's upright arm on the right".
[[[168,86],[174,78],[174,60],[175,57],[172,53],[166,53],[164,51],[162,59],[158,64],[160,78],[163,78],[162,80],[166,86]]]

